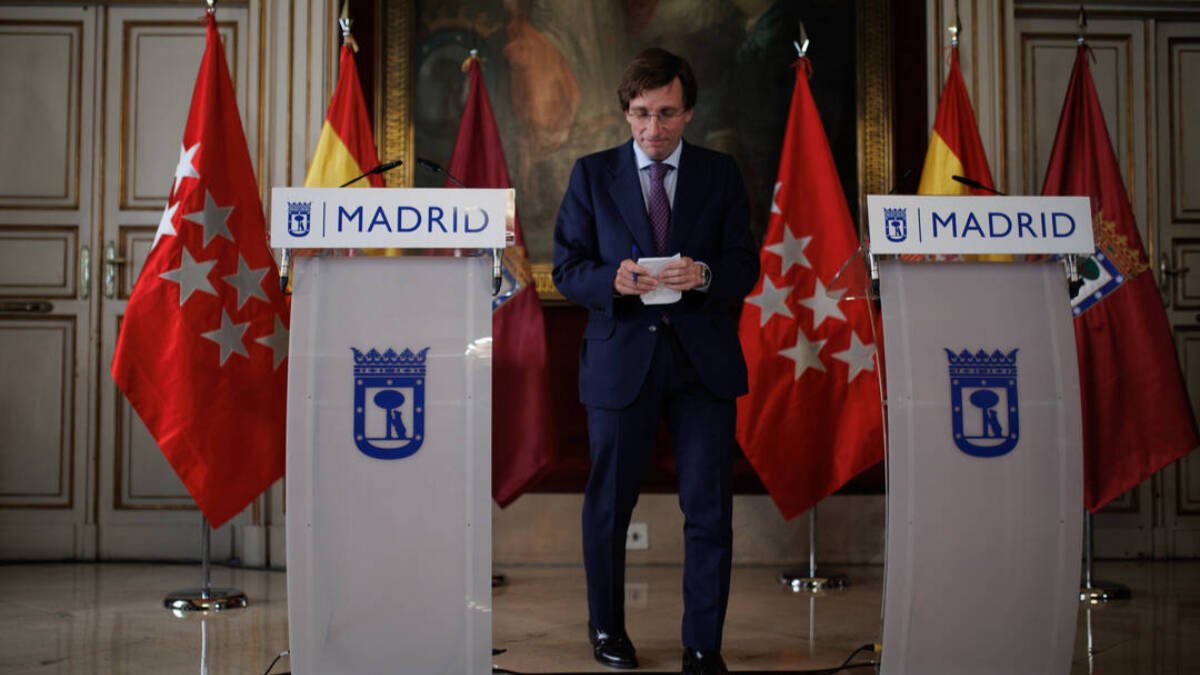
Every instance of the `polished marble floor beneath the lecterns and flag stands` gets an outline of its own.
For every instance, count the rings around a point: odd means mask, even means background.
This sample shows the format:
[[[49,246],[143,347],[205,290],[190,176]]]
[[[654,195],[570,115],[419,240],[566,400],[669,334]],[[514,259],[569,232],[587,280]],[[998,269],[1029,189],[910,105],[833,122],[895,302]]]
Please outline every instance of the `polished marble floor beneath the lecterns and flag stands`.
[[[498,572],[508,581],[494,593],[493,641],[506,650],[499,668],[602,670],[586,643],[581,568]],[[817,596],[784,590],[778,572],[734,568],[725,639],[731,669],[830,668],[878,641],[882,568],[842,568],[851,586]],[[1100,562],[1097,578],[1128,585],[1133,599],[1080,608],[1072,674],[1200,673],[1200,562]],[[287,647],[284,573],[216,567],[214,585],[244,590],[248,608],[186,619],[162,609],[164,595],[198,581],[197,566],[2,565],[0,674],[265,673]],[[678,671],[679,568],[630,567],[628,581],[638,673]],[[288,670],[284,657],[271,673]]]

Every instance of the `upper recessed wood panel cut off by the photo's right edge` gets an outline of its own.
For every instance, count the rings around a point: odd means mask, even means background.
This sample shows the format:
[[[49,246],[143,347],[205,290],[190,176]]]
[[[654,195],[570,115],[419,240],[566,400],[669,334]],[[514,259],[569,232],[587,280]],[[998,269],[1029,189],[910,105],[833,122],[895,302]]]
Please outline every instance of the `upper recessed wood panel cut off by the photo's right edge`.
[[[1200,37],[1170,37],[1166,41],[1168,88],[1171,121],[1170,142],[1171,220],[1200,222],[1200,129],[1196,109],[1200,107]]]

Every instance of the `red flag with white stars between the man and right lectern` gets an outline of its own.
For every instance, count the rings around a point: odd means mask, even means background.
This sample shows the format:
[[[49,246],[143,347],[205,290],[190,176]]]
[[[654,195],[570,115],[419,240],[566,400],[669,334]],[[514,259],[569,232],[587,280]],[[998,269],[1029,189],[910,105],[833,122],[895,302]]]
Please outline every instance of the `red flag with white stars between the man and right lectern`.
[[[738,399],[738,442],[784,518],[883,459],[868,303],[845,299],[845,287],[829,289],[858,237],[809,89],[808,59],[794,67],[762,277],[739,327],[750,393]]]

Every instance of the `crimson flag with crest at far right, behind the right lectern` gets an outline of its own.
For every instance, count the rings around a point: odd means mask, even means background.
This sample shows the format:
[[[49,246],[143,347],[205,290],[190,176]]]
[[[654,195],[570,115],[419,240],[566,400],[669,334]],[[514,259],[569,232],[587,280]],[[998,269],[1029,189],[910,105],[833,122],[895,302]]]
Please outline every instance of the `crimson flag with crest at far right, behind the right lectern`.
[[[1070,286],[1084,412],[1084,504],[1104,508],[1196,447],[1171,328],[1081,44],[1043,195],[1092,199],[1096,253]]]

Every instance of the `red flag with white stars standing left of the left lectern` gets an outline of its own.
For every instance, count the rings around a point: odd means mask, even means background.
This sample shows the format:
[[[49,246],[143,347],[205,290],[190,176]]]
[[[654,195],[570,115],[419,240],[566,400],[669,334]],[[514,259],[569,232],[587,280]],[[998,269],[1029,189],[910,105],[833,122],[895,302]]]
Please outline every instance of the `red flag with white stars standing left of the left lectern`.
[[[212,527],[283,476],[288,307],[216,19],[113,378]]]

